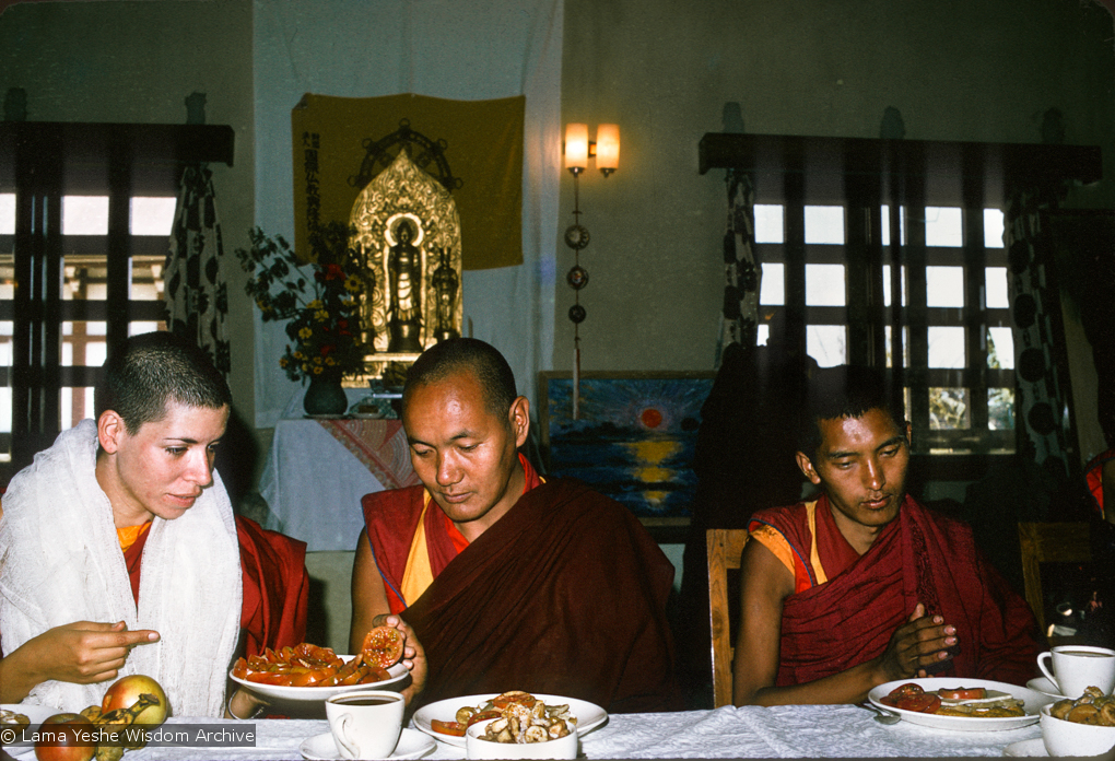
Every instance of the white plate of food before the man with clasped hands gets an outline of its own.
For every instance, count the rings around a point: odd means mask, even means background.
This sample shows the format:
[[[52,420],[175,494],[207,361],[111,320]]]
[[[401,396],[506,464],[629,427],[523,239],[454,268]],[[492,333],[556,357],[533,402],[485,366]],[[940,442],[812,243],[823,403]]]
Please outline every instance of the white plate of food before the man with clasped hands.
[[[903,721],[953,732],[998,732],[1037,723],[1044,693],[1006,682],[959,677],[899,680],[881,684],[867,700]]]

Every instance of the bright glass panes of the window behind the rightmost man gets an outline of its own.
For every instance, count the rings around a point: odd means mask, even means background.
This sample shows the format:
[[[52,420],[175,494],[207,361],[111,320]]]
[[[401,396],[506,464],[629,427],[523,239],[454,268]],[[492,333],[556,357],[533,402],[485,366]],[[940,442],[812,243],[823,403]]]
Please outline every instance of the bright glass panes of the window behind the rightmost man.
[[[904,235],[906,209],[899,210],[900,235]],[[805,239],[805,345],[806,353],[820,366],[851,362],[849,353],[849,257],[845,232],[847,211],[838,205],[804,206]],[[975,214],[982,227],[982,263],[971,264],[964,257],[964,219]],[[890,208],[882,204],[873,219],[880,220],[879,241],[891,244]],[[783,204],[755,205],[755,242],[763,260],[759,305],[765,316],[786,308],[785,222]],[[957,206],[927,206],[925,263],[921,269],[924,301],[920,305],[925,321],[915,329],[925,347],[924,384],[905,387],[908,416],[913,420],[910,402],[925,397],[929,416],[922,421],[925,433],[921,450],[928,453],[971,452],[1007,453],[1014,451],[1014,344],[1007,302],[1007,261],[1004,249],[1004,214],[1000,209],[964,210]],[[885,367],[895,367],[892,347],[903,347],[899,367],[910,368],[912,336],[905,312],[911,304],[909,272],[901,268],[900,305],[892,305],[891,266],[879,267],[872,277],[881,286],[881,304],[895,308],[902,324],[902,338],[895,340],[893,326],[885,326]],[[972,299],[972,293],[983,299]],[[982,331],[973,335],[972,326]],[[768,335],[760,326],[759,343]],[[971,373],[972,363],[986,363],[986,373]]]

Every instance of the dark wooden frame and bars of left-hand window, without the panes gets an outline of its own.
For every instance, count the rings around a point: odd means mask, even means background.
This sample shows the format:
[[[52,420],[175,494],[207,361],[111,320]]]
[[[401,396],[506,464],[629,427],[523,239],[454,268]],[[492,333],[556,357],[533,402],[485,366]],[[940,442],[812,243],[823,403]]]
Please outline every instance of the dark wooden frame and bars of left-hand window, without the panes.
[[[0,235],[0,252],[12,257],[14,291],[0,300],[0,320],[13,324],[12,366],[0,383],[12,389],[11,434],[0,434],[0,483],[31,462],[60,432],[60,389],[94,386],[99,368],[60,363],[61,324],[107,325],[108,349],[127,338],[128,322],[162,319],[161,301],[130,300],[132,257],[152,253],[166,239],[133,237],[129,206],[135,195],[176,195],[190,163],[232,165],[230,126],[159,124],[0,123],[0,193],[16,194],[16,232]],[[107,195],[108,232],[61,234],[64,195]],[[107,258],[104,300],[64,300],[66,256]]]

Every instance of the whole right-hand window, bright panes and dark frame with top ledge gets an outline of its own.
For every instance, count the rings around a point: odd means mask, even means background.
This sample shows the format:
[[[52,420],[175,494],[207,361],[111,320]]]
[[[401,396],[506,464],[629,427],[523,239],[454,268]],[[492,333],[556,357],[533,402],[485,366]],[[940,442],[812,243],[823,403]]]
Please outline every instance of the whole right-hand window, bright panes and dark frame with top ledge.
[[[1097,146],[708,133],[709,170],[729,183],[746,173],[754,193],[760,318],[780,314],[785,338],[820,364],[885,368],[923,478],[975,480],[988,456],[1014,451],[1004,211],[1020,190],[1051,199],[1098,181]],[[1059,314],[1048,316],[1067,377]],[[1055,423],[1066,442],[1069,413]]]

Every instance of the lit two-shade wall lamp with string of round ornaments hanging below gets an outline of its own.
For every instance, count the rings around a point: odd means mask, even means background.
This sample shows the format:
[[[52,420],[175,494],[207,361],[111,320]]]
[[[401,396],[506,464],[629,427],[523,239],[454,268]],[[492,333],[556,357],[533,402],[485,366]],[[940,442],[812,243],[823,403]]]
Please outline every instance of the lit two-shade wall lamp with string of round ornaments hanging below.
[[[569,308],[569,319],[573,322],[573,414],[578,420],[581,407],[581,322],[586,312],[581,306],[581,290],[589,285],[589,273],[581,267],[581,250],[589,244],[589,231],[581,225],[581,173],[589,166],[589,158],[595,156],[597,168],[605,177],[619,168],[620,127],[618,124],[601,124],[597,127],[597,142],[589,139],[589,125],[571,123],[565,125],[565,168],[573,175],[573,224],[565,229],[565,245],[573,249],[573,268],[565,281],[574,292],[573,306]]]

